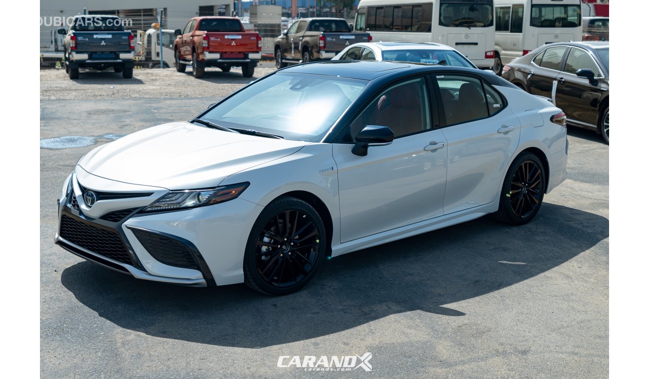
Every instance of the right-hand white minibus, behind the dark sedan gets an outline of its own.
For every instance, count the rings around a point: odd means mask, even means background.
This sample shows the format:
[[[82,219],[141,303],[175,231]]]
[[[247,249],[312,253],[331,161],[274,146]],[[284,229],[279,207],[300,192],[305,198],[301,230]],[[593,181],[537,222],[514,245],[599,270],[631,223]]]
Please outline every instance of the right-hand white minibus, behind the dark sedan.
[[[581,0],[494,0],[496,53],[493,71],[552,42],[582,40]]]

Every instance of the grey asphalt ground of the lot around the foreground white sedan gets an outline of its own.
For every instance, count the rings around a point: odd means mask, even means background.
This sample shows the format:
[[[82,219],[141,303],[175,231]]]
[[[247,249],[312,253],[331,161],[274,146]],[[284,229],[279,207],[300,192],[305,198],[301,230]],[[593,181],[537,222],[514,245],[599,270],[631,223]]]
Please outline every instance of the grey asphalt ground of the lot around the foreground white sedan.
[[[56,198],[81,155],[190,119],[250,79],[40,76],[41,138],[90,137],[40,150],[43,378],[608,377],[609,146],[594,132],[569,127],[569,179],[530,224],[485,216],[343,255],[303,290],[267,297],[138,281],[53,244]],[[372,372],[277,367],[280,356],[365,352]]]

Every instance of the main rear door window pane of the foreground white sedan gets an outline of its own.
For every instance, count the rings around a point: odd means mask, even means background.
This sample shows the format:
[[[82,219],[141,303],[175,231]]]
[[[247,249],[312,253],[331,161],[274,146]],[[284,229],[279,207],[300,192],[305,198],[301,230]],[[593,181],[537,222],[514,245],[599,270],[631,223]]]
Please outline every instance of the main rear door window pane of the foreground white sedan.
[[[447,124],[459,124],[489,116],[485,93],[479,79],[437,75],[437,83],[441,91]]]

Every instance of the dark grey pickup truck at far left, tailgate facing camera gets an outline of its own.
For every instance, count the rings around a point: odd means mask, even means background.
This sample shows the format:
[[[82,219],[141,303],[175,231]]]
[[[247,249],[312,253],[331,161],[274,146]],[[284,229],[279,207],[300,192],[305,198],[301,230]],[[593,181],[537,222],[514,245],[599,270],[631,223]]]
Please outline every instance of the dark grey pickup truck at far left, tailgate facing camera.
[[[135,38],[117,16],[75,16],[65,34],[64,64],[70,79],[79,78],[79,67],[104,70],[112,67],[125,79],[133,77]]]

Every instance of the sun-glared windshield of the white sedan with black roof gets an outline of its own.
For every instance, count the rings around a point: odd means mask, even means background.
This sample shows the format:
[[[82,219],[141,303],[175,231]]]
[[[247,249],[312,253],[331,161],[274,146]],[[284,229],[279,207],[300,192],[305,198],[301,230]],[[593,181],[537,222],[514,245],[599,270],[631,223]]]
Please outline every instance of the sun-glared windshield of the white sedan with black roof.
[[[319,142],[367,83],[336,76],[275,73],[221,102],[201,119],[227,128]]]

